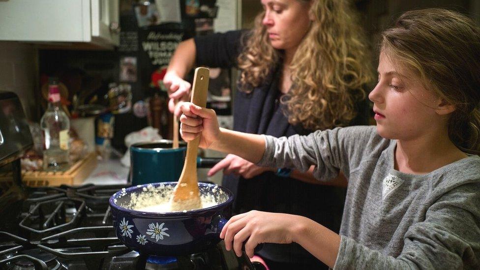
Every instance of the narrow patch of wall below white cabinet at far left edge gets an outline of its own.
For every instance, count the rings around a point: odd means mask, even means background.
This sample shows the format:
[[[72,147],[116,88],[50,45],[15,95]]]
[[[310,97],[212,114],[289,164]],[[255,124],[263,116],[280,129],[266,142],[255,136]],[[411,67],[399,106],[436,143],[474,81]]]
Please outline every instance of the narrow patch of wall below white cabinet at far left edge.
[[[37,50],[29,44],[0,42],[0,90],[17,93],[27,118],[37,120],[36,88]]]

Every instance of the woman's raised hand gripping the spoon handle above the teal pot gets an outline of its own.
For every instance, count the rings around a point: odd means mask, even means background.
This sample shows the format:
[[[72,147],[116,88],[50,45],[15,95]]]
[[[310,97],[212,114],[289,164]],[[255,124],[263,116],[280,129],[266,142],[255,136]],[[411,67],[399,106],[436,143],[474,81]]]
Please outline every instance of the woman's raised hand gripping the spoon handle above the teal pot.
[[[188,101],[192,85],[183,80],[175,72],[167,72],[163,77],[163,84],[168,90],[169,98],[168,109],[176,116],[181,115],[180,105],[182,101]]]

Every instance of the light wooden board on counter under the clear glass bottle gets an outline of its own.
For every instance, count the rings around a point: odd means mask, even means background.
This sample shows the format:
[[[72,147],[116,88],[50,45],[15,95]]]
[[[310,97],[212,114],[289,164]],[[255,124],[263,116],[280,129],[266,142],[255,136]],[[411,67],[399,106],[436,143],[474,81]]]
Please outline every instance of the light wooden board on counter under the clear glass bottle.
[[[83,159],[75,162],[64,172],[24,171],[22,170],[22,182],[28,186],[59,186],[81,185],[97,166],[96,153],[90,153]],[[11,173],[10,173],[11,174]],[[10,175],[0,173],[2,185],[12,181]]]

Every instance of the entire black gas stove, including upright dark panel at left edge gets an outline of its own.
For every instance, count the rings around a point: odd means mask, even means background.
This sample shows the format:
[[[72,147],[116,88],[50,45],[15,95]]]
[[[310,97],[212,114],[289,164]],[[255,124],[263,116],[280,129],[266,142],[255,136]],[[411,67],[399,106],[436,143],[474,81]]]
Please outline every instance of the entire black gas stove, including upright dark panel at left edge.
[[[20,157],[32,145],[18,97],[0,92],[0,269],[264,269],[246,255],[225,250],[223,241],[196,254],[139,254],[115,235],[108,200],[128,185],[26,187]],[[14,126],[12,126],[12,123]]]

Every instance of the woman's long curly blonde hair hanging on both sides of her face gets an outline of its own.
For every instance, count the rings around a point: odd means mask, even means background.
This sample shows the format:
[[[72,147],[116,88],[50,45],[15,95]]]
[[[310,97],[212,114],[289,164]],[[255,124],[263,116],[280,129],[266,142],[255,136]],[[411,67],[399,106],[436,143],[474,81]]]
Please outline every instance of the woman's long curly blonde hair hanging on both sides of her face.
[[[313,22],[289,66],[292,88],[282,99],[288,120],[312,130],[348,125],[357,115],[355,103],[365,98],[363,87],[372,79],[356,15],[348,0],[299,1],[312,1]],[[238,58],[244,91],[260,86],[283,57],[283,51],[270,45],[264,15],[256,17]]]

